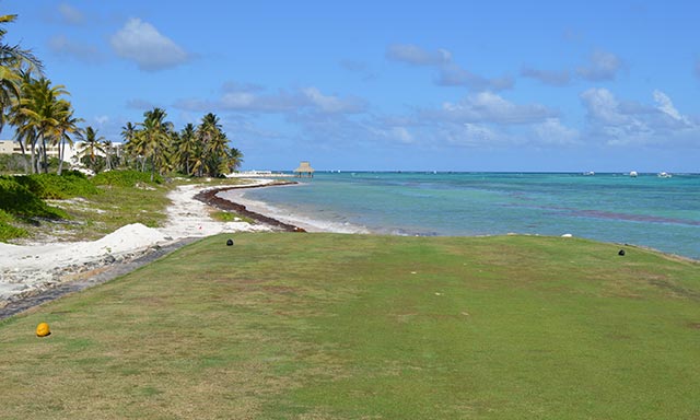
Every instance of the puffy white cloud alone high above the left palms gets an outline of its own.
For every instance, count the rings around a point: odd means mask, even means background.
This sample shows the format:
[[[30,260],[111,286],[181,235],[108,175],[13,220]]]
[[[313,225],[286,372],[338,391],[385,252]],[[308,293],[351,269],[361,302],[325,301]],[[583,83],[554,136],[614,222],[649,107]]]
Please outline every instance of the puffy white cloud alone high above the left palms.
[[[176,67],[189,59],[182,47],[140,19],[129,19],[110,44],[119,57],[136,61],[145,71]]]

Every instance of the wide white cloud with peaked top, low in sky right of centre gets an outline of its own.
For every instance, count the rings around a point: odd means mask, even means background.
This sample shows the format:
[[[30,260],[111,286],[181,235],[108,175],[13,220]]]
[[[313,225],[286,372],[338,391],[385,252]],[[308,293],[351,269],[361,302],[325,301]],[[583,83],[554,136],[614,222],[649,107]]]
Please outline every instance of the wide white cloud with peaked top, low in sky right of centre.
[[[539,104],[517,105],[492,92],[470,94],[459,103],[445,102],[442,109],[424,116],[457,122],[532,124],[556,117],[557,113]]]

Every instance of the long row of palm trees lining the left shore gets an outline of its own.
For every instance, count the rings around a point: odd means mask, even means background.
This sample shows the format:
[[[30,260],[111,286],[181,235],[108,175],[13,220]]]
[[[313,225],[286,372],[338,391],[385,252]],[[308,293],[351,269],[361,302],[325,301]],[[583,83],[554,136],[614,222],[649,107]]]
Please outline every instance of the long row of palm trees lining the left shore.
[[[4,25],[16,15],[0,15],[0,131],[14,127],[25,173],[48,173],[48,149],[58,147],[56,172],[63,168],[66,145],[82,141],[80,161],[94,172],[117,167],[158,174],[177,172],[190,176],[220,176],[236,170],[243,153],[229,145],[219,117],[207,114],[198,126],[176,131],[162,108],[143,114],[142,122],[122,127],[124,148],[118,148],[91,126],[81,127],[66,86],[52,84],[31,50],[4,42]]]

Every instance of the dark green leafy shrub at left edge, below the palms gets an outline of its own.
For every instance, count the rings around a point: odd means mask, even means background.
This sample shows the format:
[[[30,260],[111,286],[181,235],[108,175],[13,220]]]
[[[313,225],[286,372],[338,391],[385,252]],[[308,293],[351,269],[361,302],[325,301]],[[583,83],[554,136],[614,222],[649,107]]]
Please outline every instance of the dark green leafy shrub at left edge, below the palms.
[[[36,194],[32,192],[19,179],[27,184],[36,184],[31,177],[1,176],[0,177],[0,210],[21,218],[67,219],[68,214],[57,208],[46,205]]]

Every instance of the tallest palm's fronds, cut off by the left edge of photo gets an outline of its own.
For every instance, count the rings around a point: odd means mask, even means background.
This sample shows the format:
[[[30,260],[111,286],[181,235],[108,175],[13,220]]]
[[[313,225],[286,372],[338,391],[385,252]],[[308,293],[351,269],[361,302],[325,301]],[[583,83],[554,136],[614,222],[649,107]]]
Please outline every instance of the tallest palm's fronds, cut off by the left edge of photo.
[[[3,42],[8,33],[3,26],[14,22],[15,19],[16,14],[0,15],[0,131],[4,125],[4,110],[20,100],[22,71],[34,70],[39,73],[42,71],[42,62],[31,50]]]

